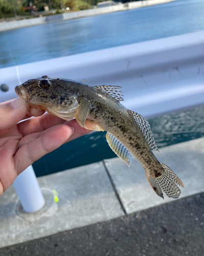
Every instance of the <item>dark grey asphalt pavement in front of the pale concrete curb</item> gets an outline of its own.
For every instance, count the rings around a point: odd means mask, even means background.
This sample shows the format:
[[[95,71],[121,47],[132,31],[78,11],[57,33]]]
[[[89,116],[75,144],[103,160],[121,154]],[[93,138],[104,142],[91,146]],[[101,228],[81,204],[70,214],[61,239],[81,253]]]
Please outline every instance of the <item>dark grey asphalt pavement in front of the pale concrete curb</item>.
[[[0,249],[0,256],[203,256],[204,194]]]

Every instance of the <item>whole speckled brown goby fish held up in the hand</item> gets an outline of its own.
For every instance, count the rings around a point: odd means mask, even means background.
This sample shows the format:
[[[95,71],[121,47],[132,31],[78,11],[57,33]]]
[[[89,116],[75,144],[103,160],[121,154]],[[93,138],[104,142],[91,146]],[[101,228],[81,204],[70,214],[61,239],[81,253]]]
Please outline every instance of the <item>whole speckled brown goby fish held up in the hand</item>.
[[[48,113],[64,120],[75,117],[78,123],[93,131],[107,131],[112,150],[127,165],[134,155],[145,169],[146,177],[158,196],[162,190],[170,198],[179,198],[183,182],[165,164],[160,163],[151,149],[158,150],[148,121],[127,110],[120,101],[118,86],[89,86],[84,82],[64,78],[30,79],[15,88],[28,104],[40,105]]]

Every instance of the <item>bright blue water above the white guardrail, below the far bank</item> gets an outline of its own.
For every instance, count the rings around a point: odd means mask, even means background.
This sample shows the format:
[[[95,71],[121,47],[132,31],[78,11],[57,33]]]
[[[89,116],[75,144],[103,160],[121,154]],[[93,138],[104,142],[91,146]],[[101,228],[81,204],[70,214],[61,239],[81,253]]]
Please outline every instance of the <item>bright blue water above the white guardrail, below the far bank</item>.
[[[178,0],[0,32],[0,68],[204,30],[203,13],[203,0]]]

